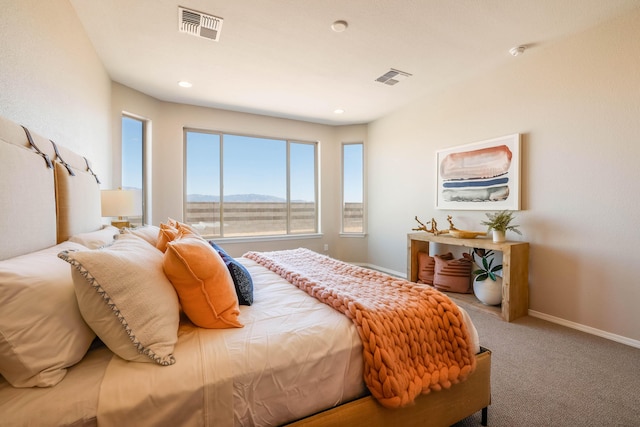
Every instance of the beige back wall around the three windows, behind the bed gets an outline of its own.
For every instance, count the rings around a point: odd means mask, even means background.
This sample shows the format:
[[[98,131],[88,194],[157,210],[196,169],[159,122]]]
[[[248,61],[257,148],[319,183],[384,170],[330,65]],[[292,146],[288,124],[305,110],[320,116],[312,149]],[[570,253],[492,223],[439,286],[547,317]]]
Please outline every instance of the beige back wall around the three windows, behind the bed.
[[[280,239],[232,243],[223,241],[231,255],[247,250],[291,249],[300,246],[349,261],[366,262],[366,239],[339,237],[340,228],[340,144],[364,141],[366,126],[334,127],[277,119],[247,113],[161,102],[125,86],[113,85],[114,174],[119,172],[120,116],[123,111],[151,121],[152,224],[167,217],[182,218],[183,209],[183,128],[210,129],[230,133],[319,141],[321,229],[322,236],[312,239]],[[343,244],[343,240],[347,240]]]

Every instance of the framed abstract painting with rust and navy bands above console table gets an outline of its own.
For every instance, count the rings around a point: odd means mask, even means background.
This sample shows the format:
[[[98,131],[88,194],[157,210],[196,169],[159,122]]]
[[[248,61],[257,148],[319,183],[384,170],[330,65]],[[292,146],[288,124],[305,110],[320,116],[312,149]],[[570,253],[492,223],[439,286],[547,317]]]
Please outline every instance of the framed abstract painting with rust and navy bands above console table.
[[[436,208],[520,209],[520,134],[440,150],[436,161]]]

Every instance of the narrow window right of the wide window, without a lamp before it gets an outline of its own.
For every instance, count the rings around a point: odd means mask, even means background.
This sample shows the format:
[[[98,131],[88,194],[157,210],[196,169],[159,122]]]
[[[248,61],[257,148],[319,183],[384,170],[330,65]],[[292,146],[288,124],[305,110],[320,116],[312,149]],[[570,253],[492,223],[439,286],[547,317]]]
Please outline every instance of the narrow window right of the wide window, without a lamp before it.
[[[365,232],[364,144],[342,144],[342,232]]]

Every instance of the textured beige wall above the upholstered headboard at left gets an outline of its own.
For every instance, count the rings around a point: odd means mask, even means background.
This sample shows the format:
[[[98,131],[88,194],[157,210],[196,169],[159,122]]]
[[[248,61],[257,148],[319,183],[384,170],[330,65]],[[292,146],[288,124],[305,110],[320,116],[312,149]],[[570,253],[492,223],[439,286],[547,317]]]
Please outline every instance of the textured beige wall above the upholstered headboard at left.
[[[0,0],[0,115],[111,181],[111,80],[67,0]]]

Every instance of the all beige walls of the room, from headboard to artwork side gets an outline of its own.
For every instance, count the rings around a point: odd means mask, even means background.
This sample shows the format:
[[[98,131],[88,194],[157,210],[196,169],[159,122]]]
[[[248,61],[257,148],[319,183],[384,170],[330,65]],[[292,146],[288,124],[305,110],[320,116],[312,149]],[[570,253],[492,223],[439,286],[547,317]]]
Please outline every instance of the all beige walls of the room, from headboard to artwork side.
[[[322,227],[309,246],[404,272],[406,233],[422,219],[479,229],[483,212],[434,209],[435,151],[523,134],[523,240],[531,242],[530,308],[640,340],[640,11],[528,50],[500,69],[434,93],[367,126],[329,127],[157,101],[118,84],[66,0],[0,0],[0,114],[91,158],[118,186],[120,114],[152,122],[152,222],[182,212],[182,127],[321,141]],[[340,238],[340,143],[364,140],[368,231]],[[512,235],[511,237],[518,237]]]

